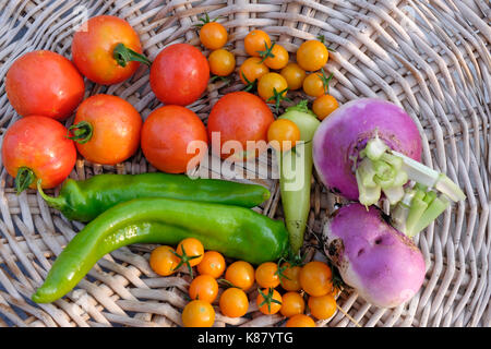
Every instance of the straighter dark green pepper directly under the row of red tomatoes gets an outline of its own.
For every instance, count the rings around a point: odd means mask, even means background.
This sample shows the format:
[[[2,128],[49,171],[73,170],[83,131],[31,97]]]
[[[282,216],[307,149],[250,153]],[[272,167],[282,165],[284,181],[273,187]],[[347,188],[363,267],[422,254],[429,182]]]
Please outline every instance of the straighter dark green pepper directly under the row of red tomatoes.
[[[137,197],[170,197],[251,208],[271,195],[259,184],[161,172],[97,174],[83,181],[68,179],[58,197],[46,195],[40,183],[37,188],[49,206],[79,221],[89,221],[116,204]]]

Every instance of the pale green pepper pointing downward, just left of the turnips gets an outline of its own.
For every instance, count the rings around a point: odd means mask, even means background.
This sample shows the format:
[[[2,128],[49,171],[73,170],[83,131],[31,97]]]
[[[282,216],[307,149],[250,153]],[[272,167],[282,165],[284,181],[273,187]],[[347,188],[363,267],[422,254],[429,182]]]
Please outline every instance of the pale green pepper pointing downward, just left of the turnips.
[[[310,188],[312,177],[312,137],[321,123],[308,109],[307,100],[287,108],[278,119],[288,119],[300,130],[300,142],[289,152],[277,152],[279,185],[285,224],[294,253],[303,244],[303,234],[310,210]]]

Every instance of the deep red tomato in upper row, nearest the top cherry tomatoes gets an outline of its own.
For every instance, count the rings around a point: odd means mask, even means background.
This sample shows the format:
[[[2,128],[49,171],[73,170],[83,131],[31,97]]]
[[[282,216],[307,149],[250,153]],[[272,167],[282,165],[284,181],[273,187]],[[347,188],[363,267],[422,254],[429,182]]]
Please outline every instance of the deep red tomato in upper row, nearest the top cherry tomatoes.
[[[206,57],[190,44],[166,47],[152,63],[149,83],[165,105],[187,106],[205,92],[209,80]]]

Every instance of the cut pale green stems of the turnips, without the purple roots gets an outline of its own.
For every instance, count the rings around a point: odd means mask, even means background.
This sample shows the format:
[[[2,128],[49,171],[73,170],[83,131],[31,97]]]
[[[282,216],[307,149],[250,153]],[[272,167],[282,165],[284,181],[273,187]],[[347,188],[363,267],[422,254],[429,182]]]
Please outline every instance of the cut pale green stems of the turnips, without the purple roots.
[[[392,151],[376,136],[367,143],[360,157],[356,169],[359,202],[367,207],[376,204],[383,192],[394,207],[394,226],[408,237],[427,228],[451,201],[466,198],[448,177]],[[405,190],[408,180],[416,185]]]

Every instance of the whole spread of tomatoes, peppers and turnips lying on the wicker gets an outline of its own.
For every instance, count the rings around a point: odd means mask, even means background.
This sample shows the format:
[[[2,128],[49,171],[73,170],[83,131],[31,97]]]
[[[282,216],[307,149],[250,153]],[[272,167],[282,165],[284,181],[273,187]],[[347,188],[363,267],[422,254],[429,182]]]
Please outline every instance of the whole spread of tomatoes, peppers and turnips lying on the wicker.
[[[17,193],[37,189],[67,218],[87,222],[57,257],[35,302],[63,297],[100,257],[133,243],[163,244],[149,256],[156,274],[184,268],[190,275],[184,326],[212,326],[214,303],[226,316],[243,316],[251,297],[262,313],[288,318],[286,326],[313,326],[312,317],[326,320],[336,311],[337,270],[379,306],[396,306],[418,292],[426,266],[411,238],[465,195],[445,174],[420,164],[421,139],[402,108],[369,98],[339,106],[330,95],[330,49],[322,37],[302,43],[294,61],[267,33],[248,33],[250,57],[237,69],[243,91],[220,97],[205,124],[188,106],[209,83],[227,84],[236,72],[220,23],[205,15],[197,25],[207,57],[190,44],[175,44],[154,61],[121,19],[96,16],[82,27],[87,29],[73,36],[72,61],[34,51],[7,74],[8,98],[22,118],[4,134],[2,160]],[[121,97],[84,99],[84,76],[117,84],[142,64],[164,104],[145,121]],[[299,89],[308,98],[294,104],[288,92]],[[73,112],[73,123],[64,127],[60,121]],[[251,209],[270,198],[264,186],[184,176],[208,146],[225,161],[239,163],[272,148],[284,221]],[[160,172],[68,179],[77,153],[93,164],[117,165],[139,149]],[[330,263],[300,257],[313,167],[328,190],[351,201],[324,226]],[[60,184],[57,197],[45,193]],[[391,205],[390,217],[378,207],[382,198]],[[225,290],[216,303],[218,282]]]

